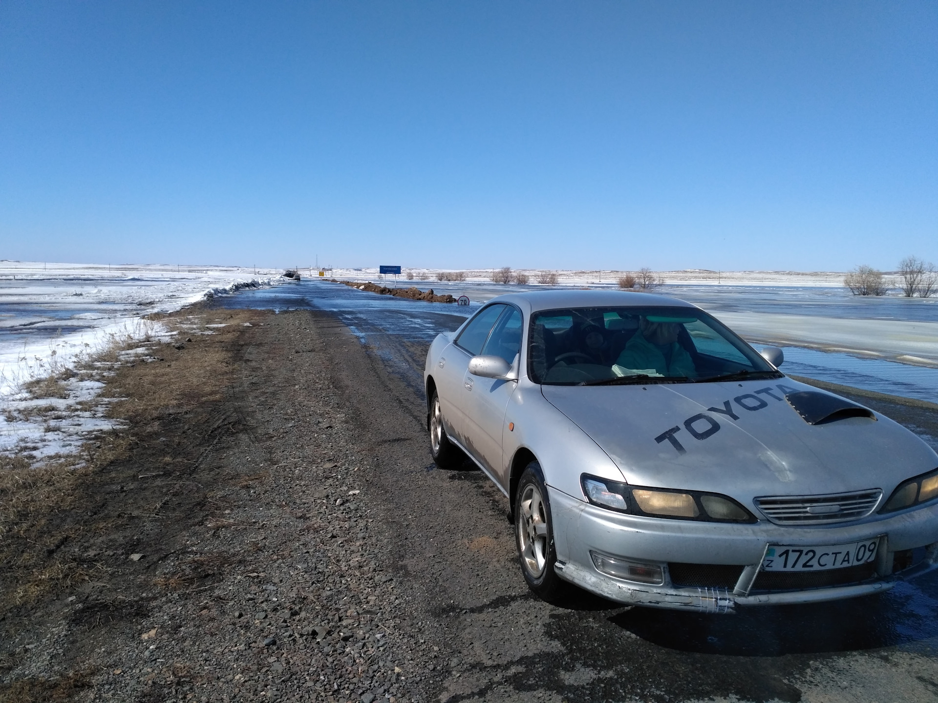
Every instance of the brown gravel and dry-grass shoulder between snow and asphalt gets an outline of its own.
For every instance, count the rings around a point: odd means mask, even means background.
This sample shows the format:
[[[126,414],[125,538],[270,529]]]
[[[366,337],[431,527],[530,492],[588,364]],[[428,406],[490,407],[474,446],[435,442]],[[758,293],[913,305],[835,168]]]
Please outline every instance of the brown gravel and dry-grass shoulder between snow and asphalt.
[[[0,700],[420,699],[437,652],[323,340],[206,315],[108,382],[113,460],[4,512]]]

